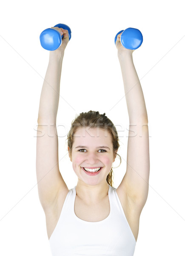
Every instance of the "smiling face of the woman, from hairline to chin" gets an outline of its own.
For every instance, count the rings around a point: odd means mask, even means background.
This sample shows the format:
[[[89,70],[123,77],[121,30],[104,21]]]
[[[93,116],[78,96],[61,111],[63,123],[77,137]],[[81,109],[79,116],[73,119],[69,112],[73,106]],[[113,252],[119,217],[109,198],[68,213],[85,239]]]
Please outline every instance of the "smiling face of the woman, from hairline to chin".
[[[111,134],[100,128],[78,128],[69,157],[80,182],[88,185],[107,183],[106,177],[115,160]],[[82,167],[102,169],[96,175],[89,175]]]

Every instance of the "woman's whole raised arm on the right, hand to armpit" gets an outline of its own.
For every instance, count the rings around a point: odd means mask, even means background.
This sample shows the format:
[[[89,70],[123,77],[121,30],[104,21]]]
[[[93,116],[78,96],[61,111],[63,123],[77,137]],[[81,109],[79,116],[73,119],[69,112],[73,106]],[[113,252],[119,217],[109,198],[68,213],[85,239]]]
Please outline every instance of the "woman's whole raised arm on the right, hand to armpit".
[[[135,209],[141,212],[148,197],[150,170],[148,116],[142,87],[133,63],[134,50],[125,49],[120,44],[120,35],[116,46],[130,122],[127,169],[120,188],[136,205]]]

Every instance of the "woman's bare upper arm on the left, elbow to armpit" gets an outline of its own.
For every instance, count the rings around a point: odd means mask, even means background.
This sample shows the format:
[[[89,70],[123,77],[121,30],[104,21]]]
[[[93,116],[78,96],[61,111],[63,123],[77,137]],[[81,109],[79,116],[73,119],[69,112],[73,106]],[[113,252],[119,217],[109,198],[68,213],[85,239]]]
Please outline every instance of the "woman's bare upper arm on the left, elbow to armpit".
[[[38,123],[36,173],[40,203],[46,209],[56,202],[59,190],[68,190],[59,170],[55,124],[48,126]]]

